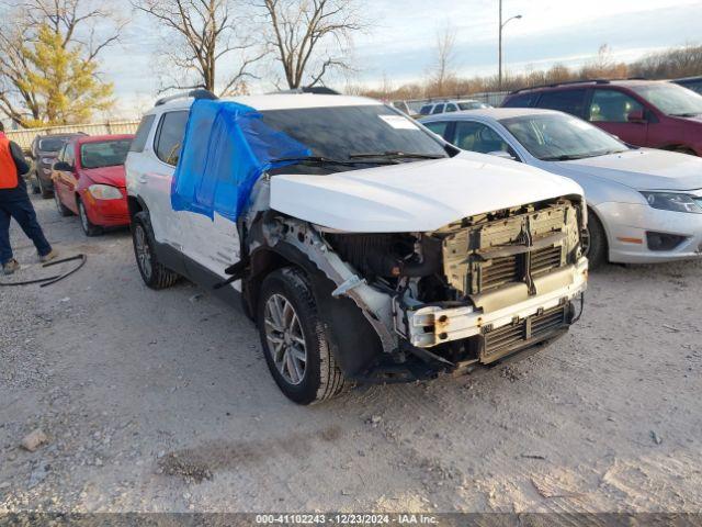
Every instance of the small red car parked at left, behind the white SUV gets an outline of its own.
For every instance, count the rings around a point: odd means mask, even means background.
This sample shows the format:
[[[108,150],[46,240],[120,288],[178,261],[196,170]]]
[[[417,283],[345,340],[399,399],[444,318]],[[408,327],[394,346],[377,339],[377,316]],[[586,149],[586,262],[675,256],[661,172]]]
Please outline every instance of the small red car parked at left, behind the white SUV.
[[[88,236],[129,224],[124,161],[133,135],[76,137],[52,170],[54,198],[63,216],[78,214]]]

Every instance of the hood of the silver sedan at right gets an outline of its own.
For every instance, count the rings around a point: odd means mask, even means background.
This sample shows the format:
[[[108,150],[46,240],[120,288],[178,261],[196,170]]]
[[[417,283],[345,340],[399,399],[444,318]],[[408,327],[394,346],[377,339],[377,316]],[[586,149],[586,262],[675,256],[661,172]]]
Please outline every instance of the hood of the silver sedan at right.
[[[702,158],[687,154],[642,148],[555,165],[562,176],[593,176],[635,190],[702,189]]]

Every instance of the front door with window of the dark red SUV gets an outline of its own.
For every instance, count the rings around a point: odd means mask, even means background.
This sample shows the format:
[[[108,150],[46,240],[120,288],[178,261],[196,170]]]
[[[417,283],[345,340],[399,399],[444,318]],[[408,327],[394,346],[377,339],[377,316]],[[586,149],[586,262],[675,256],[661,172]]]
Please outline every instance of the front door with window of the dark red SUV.
[[[645,117],[646,109],[633,97],[611,88],[597,88],[592,92],[587,119],[625,143],[646,146],[648,122],[646,119],[632,120],[635,113]]]

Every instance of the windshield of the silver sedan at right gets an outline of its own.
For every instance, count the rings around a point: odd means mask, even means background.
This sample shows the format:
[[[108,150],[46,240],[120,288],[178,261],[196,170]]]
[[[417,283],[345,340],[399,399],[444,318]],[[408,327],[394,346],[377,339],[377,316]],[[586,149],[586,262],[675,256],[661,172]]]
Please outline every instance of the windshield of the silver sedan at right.
[[[610,134],[570,115],[524,115],[500,122],[532,156],[542,160],[584,159],[629,149]]]

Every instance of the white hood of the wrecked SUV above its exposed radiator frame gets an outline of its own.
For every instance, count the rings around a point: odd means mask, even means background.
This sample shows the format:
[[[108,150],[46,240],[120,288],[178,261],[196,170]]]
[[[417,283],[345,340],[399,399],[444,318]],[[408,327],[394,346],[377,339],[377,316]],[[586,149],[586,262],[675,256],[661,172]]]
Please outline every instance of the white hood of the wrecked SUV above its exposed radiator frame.
[[[480,154],[271,178],[271,209],[348,233],[433,232],[475,214],[571,194],[582,195],[575,181]]]

